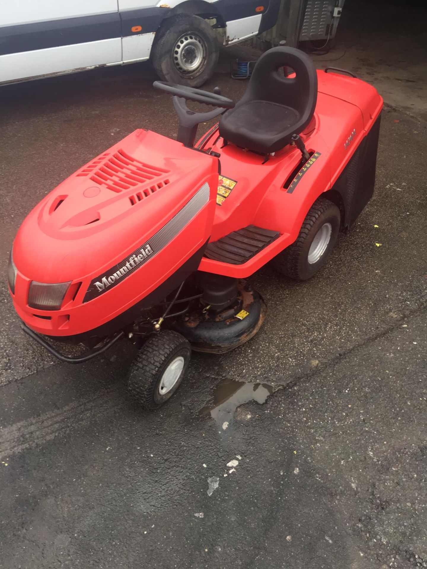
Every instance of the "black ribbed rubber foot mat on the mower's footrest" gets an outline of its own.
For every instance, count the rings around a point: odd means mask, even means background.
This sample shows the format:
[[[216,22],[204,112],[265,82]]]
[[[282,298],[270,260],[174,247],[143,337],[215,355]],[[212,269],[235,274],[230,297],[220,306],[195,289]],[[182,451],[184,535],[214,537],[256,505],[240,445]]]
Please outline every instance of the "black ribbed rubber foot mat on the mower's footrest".
[[[209,243],[204,251],[204,256],[213,259],[213,261],[243,265],[267,245],[270,245],[279,235],[278,231],[248,225],[221,237],[218,241]]]

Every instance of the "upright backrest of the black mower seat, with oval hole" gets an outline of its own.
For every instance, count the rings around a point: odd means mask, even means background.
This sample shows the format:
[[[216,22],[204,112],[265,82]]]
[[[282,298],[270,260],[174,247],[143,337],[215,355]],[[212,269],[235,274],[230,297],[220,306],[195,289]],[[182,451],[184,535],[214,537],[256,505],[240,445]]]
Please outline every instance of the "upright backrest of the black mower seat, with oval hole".
[[[295,71],[295,77],[281,75],[278,70],[285,66]],[[317,73],[310,56],[294,47],[273,47],[263,53],[238,104],[251,100],[274,102],[295,109],[300,120],[306,123],[303,130],[313,117],[317,101]]]

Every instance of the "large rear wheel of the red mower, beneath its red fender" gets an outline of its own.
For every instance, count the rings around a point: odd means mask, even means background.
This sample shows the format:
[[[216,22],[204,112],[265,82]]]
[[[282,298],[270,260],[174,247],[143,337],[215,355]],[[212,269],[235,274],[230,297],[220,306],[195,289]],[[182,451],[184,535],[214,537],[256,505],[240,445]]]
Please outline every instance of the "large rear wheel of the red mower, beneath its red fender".
[[[276,269],[295,281],[313,277],[334,249],[339,227],[339,208],[319,197],[307,213],[297,240],[274,258]]]

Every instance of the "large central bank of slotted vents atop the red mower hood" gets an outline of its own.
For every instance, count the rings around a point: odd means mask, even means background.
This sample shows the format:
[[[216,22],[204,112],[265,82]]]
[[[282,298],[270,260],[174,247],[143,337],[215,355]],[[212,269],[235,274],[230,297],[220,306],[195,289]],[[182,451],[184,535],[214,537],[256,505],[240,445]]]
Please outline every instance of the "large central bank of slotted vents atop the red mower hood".
[[[85,170],[88,170],[88,168],[85,168]],[[105,185],[113,192],[119,193],[136,185],[151,183],[156,178],[169,174],[169,172],[170,170],[145,164],[129,156],[124,150],[118,150],[113,155],[110,155],[108,160],[105,160],[98,166],[97,170],[91,175],[91,180],[96,184]],[[163,185],[163,183],[161,184]],[[158,189],[159,185],[155,184],[155,187]]]

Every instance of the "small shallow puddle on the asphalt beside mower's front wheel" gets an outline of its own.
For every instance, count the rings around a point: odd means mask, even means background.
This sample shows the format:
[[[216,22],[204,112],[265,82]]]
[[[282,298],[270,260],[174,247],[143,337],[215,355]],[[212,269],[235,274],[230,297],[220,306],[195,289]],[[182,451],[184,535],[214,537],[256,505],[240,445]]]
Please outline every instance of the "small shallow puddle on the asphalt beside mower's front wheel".
[[[256,401],[262,405],[273,391],[273,387],[269,384],[224,381],[215,387],[213,405],[203,407],[199,414],[203,417],[210,415],[219,424],[221,430],[227,430],[237,407],[249,401]]]

